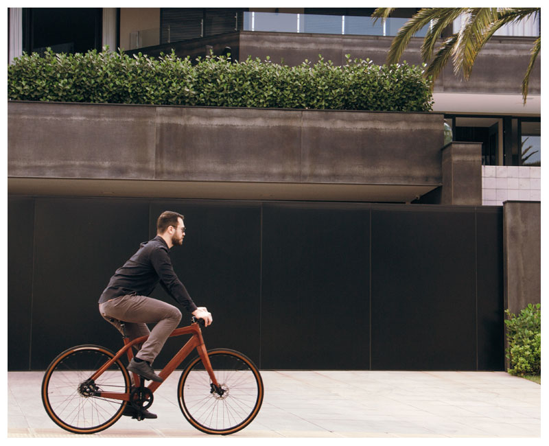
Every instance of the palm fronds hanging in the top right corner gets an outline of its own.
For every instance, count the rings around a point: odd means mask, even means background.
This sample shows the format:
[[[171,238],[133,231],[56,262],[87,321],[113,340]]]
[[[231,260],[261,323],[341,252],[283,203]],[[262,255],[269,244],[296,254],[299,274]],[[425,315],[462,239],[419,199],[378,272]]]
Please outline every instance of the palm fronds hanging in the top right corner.
[[[375,21],[386,20],[393,10],[395,8],[377,8],[372,15]],[[430,62],[425,76],[432,76],[431,88],[449,58],[452,58],[454,64],[454,73],[456,75],[462,73],[463,78],[468,80],[476,56],[500,27],[538,15],[540,11],[541,8],[421,8],[395,36],[389,49],[387,62],[397,63],[410,43],[410,38],[421,28],[430,25],[421,46],[421,58],[424,62]],[[460,30],[443,40],[433,58],[434,48],[443,30],[462,15],[465,20]],[[535,40],[530,51],[530,63],[522,80],[522,98],[525,103],[528,95],[528,80],[540,47],[541,35]]]

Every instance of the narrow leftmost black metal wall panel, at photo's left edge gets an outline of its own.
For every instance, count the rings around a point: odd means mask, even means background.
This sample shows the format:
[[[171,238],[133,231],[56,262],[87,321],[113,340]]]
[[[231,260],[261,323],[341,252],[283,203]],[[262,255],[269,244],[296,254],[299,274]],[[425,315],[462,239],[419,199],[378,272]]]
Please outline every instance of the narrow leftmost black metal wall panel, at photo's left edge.
[[[8,198],[8,369],[29,370],[34,199]]]

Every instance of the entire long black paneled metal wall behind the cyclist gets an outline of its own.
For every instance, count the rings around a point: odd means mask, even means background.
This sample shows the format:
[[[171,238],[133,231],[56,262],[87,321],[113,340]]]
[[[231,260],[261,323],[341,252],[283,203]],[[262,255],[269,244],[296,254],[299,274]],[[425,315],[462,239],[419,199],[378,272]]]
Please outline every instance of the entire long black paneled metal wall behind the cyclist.
[[[165,210],[186,217],[171,255],[213,313],[209,348],[266,369],[503,369],[500,208],[10,197],[8,370],[119,348],[97,299]]]

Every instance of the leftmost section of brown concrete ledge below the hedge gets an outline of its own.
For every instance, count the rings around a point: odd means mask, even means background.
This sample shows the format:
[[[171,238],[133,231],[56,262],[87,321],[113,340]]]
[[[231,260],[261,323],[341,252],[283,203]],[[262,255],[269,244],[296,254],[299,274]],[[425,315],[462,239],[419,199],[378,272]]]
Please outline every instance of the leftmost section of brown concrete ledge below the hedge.
[[[155,119],[147,106],[8,102],[8,176],[154,178]]]

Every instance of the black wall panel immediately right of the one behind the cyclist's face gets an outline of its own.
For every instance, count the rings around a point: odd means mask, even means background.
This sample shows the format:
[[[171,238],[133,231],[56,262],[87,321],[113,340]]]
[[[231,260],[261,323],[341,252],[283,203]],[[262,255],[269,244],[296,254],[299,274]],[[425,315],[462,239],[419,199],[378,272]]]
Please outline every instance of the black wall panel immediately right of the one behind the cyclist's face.
[[[261,366],[369,368],[369,207],[264,204]]]

